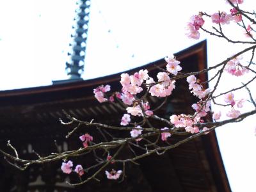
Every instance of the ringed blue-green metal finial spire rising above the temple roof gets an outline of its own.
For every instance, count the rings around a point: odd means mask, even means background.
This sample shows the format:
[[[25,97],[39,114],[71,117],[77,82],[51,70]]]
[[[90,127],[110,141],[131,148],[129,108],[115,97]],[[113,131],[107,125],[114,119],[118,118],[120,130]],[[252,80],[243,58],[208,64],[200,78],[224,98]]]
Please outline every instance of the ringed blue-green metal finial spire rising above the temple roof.
[[[84,71],[84,56],[86,51],[86,40],[90,13],[90,0],[77,1],[76,24],[72,26],[75,30],[71,35],[73,41],[70,43],[70,60],[66,63],[67,74],[72,80],[81,79]]]

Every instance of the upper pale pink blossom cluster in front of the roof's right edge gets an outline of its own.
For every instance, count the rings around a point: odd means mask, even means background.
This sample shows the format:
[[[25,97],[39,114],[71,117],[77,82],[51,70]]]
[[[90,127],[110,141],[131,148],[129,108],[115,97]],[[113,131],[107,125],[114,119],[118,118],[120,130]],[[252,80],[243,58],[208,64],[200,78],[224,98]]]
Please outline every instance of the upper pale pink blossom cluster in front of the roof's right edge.
[[[210,92],[209,88],[205,90],[201,84],[196,83],[196,77],[193,75],[188,76],[187,81],[189,83],[189,90],[199,99],[203,99]]]

